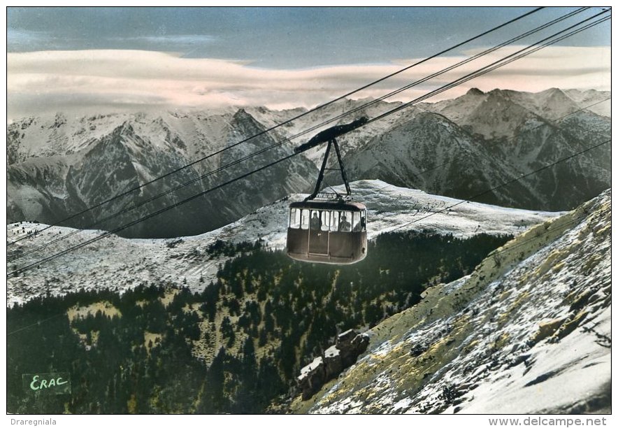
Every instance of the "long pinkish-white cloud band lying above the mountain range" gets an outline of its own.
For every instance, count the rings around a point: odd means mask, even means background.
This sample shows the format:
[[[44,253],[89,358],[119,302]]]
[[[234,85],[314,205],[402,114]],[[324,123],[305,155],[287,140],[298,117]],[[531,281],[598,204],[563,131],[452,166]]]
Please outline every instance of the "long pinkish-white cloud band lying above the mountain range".
[[[392,100],[414,99],[518,49],[494,52],[397,94]],[[473,55],[475,51],[465,53]],[[381,97],[464,58],[433,59],[354,97]],[[412,58],[392,64],[279,70],[256,68],[249,62],[182,58],[174,53],[143,50],[8,53],[8,117],[97,108],[311,107],[417,61]],[[610,48],[545,48],[429,101],[457,97],[470,87],[529,92],[549,87],[609,90]]]

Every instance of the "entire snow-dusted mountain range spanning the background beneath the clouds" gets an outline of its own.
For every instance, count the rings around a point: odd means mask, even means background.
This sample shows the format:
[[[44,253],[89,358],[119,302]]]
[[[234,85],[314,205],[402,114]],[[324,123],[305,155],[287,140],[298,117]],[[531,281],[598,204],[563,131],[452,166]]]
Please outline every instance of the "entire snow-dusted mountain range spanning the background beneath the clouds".
[[[340,138],[351,180],[382,179],[433,194],[468,198],[529,173],[587,145],[609,138],[610,119],[579,111],[608,93],[558,89],[530,94],[470,90],[457,99],[403,109]],[[48,224],[146,183],[153,178],[259,134],[303,113],[273,132],[193,164],[154,185],[116,199],[67,222],[85,228],[95,220],[190,180],[181,190],[96,224],[113,229],[163,206],[197,194],[274,159],[333,124],[366,115],[377,117],[401,103],[343,99],[315,112],[263,107],[221,112],[122,113],[29,117],[8,125],[8,222]],[[604,113],[605,104],[598,104]],[[601,109],[601,110],[599,110]],[[220,166],[271,147],[342,113],[331,124],[271,148],[249,161],[197,180]],[[573,113],[573,114],[570,114]],[[570,114],[568,116],[564,116]],[[324,146],[273,166],[123,231],[124,236],[169,237],[199,234],[228,224],[285,194],[306,192],[316,176]],[[480,201],[519,208],[570,209],[609,187],[610,147],[605,145],[556,168],[484,194]],[[340,183],[331,173],[327,185]],[[573,185],[577,183],[577,185]]]

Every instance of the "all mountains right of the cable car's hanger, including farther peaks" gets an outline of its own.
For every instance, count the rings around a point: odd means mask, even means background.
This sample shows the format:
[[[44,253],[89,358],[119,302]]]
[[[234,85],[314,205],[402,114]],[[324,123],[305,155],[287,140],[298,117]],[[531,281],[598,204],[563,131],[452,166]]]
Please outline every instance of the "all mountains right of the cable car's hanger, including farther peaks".
[[[561,90],[470,90],[419,108],[426,111],[412,110],[348,150],[348,176],[468,199],[610,138],[609,117],[577,111],[580,104]],[[575,208],[610,186],[610,152],[609,144],[602,145],[478,200],[549,211]],[[327,178],[340,183],[336,173]]]

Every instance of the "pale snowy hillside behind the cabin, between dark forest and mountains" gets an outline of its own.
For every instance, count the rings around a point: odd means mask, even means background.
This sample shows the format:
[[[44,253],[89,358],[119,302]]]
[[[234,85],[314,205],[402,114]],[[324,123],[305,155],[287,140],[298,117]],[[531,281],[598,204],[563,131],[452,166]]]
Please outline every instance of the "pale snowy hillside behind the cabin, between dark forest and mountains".
[[[389,185],[380,180],[351,183],[354,200],[368,208],[368,236],[400,228],[431,229],[455,236],[473,234],[519,234],[559,213],[545,213],[501,208],[459,201],[426,194],[420,190]],[[339,192],[341,187],[336,187]],[[209,259],[208,246],[217,239],[231,243],[262,239],[271,248],[285,248],[287,206],[306,195],[296,194],[243,217],[225,227],[199,236],[174,239],[127,239],[108,236],[75,252],[45,263],[22,276],[8,279],[8,304],[31,299],[49,292],[64,294],[85,287],[88,290],[110,288],[126,290],[140,283],[186,281],[192,290],[203,290],[215,278],[217,268],[225,258]],[[43,224],[9,224],[8,240],[41,230]],[[15,268],[35,262],[99,236],[101,231],[80,231],[64,241],[33,252],[11,262],[14,255],[24,254],[55,238],[70,234],[73,229],[51,227],[36,236],[8,247],[8,267]]]

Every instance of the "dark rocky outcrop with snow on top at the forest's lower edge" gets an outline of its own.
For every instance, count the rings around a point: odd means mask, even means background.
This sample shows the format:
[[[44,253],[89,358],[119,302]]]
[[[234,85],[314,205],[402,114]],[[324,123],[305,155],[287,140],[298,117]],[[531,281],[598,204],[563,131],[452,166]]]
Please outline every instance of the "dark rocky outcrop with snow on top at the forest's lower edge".
[[[324,383],[354,364],[359,355],[366,351],[368,344],[369,336],[352,329],[339,334],[337,343],[328,348],[324,355],[304,366],[301,375],[296,378],[303,391],[303,400],[310,399]]]

